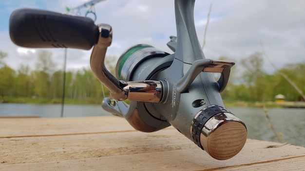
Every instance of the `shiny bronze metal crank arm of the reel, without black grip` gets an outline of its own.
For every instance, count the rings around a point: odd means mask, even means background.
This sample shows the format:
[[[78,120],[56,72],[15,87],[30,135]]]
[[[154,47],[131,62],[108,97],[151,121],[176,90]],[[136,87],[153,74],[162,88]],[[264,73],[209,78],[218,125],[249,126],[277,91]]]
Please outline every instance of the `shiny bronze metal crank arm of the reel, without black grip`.
[[[112,28],[108,24],[98,24],[97,26],[99,36],[91,54],[90,65],[96,78],[110,90],[112,98],[117,101],[160,102],[163,95],[163,86],[160,81],[125,82],[118,80],[107,70],[104,61],[107,48],[112,42]]]

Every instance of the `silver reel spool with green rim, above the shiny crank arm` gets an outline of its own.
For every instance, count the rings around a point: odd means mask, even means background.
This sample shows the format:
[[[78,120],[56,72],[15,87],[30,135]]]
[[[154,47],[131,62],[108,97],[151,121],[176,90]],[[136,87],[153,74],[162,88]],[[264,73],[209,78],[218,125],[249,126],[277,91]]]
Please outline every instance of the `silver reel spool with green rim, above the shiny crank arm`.
[[[169,55],[169,53],[160,51],[150,45],[134,45],[124,51],[118,59],[115,67],[116,76],[119,80],[124,81],[140,80],[140,75],[143,74],[144,70],[147,70],[152,66],[151,64],[155,64],[160,58],[167,55]],[[140,65],[143,65],[143,67],[140,67]],[[139,70],[138,73],[136,73],[136,70]],[[151,75],[151,73],[147,72],[146,74]]]

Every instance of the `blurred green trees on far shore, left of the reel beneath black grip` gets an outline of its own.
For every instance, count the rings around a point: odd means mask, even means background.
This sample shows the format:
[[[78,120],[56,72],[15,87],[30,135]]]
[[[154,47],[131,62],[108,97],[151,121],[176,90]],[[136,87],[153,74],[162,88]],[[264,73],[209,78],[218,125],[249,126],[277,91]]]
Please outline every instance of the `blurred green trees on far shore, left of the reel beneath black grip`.
[[[3,59],[7,57],[0,53],[0,99],[5,97],[27,97],[38,99],[61,99],[63,96],[63,70],[55,70],[50,51],[38,51],[38,62],[35,70],[29,66],[20,65],[17,70],[7,66]],[[102,99],[103,94],[109,95],[105,89],[102,92],[101,83],[95,78],[90,68],[83,68],[65,73],[65,98],[75,100]],[[97,103],[100,103],[97,102]]]

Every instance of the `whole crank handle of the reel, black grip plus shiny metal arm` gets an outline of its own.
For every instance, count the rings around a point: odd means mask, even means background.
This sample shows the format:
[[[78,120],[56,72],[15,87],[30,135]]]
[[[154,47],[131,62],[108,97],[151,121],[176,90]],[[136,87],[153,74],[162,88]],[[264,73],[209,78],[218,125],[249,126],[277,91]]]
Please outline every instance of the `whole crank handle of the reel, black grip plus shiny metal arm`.
[[[10,17],[11,40],[26,48],[75,48],[89,50],[95,45],[90,64],[95,76],[111,91],[115,100],[158,103],[163,86],[159,81],[125,82],[115,78],[104,66],[112,28],[95,25],[89,17],[64,15],[45,10],[19,9]]]

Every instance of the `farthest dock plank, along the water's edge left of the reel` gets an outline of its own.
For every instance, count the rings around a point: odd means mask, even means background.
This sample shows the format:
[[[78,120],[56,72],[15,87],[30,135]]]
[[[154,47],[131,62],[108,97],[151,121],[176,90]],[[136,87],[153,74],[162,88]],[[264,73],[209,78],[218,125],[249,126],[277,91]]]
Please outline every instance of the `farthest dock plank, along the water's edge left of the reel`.
[[[0,137],[87,134],[134,130],[119,117],[2,118]]]

